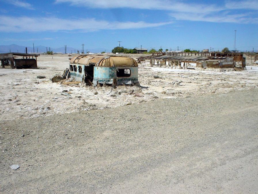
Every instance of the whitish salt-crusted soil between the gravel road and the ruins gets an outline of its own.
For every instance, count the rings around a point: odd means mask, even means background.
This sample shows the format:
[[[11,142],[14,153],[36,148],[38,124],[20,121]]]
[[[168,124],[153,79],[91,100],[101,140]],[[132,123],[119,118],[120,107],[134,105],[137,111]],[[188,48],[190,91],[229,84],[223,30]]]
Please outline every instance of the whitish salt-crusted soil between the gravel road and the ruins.
[[[132,57],[137,57],[133,55]],[[253,89],[258,84],[257,66],[241,72],[211,72],[139,66],[141,87],[73,87],[52,83],[54,74],[69,67],[68,55],[42,55],[35,70],[0,69],[0,120],[31,118],[73,111],[119,107],[158,98],[220,94]],[[249,61],[247,61],[249,64]],[[252,69],[251,69],[252,68]],[[37,79],[45,75],[45,79]],[[154,76],[158,76],[154,79]],[[71,90],[71,97],[61,95]],[[97,91],[98,94],[94,95]],[[142,93],[143,97],[135,96]]]

